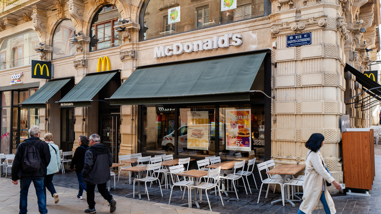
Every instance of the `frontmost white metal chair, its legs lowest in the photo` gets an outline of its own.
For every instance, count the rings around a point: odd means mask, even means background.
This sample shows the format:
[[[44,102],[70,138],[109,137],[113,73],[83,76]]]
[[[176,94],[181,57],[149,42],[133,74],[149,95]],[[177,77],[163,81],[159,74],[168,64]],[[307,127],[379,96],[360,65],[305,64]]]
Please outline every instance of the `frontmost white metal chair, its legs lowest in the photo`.
[[[191,190],[193,188],[197,188],[197,189],[200,189],[200,198],[201,198],[201,194],[202,194],[202,190],[205,190],[205,194],[207,196],[207,199],[208,199],[208,204],[209,204],[209,209],[212,211],[212,207],[211,207],[211,202],[209,201],[209,196],[208,196],[208,190],[210,189],[214,189],[215,187],[218,188],[218,193],[220,195],[220,198],[221,198],[221,203],[222,203],[222,206],[224,206],[224,201],[222,200],[222,196],[221,196],[221,193],[220,193],[220,187],[219,187],[219,175],[220,175],[220,171],[221,171],[221,167],[218,167],[216,169],[211,169],[208,171],[208,175],[207,175],[207,181],[206,182],[202,182],[198,185],[192,185],[191,188],[190,188],[190,198],[191,198]],[[191,204],[191,207],[192,207],[192,204]]]

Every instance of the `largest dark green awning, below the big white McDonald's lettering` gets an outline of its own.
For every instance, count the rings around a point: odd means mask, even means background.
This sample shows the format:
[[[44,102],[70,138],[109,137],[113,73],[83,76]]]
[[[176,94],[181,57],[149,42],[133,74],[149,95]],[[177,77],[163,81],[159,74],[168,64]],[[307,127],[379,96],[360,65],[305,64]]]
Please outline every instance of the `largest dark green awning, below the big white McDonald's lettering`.
[[[137,68],[110,105],[249,101],[266,52]]]

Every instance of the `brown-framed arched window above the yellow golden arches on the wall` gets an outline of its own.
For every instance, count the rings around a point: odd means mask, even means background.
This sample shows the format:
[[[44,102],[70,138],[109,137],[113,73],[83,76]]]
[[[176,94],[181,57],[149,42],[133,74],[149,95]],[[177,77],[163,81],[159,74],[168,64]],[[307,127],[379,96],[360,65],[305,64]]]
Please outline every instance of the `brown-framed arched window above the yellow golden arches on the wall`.
[[[121,35],[114,29],[121,15],[112,4],[102,7],[91,22],[90,51],[101,50],[122,43]]]

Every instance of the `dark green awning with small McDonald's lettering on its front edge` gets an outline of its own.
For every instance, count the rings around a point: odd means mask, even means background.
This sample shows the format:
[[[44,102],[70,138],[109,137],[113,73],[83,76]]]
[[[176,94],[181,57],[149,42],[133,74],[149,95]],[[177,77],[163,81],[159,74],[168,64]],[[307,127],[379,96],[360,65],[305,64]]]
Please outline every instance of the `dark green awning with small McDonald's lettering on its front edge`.
[[[90,107],[93,97],[111,80],[118,71],[87,74],[60,101],[60,107]]]

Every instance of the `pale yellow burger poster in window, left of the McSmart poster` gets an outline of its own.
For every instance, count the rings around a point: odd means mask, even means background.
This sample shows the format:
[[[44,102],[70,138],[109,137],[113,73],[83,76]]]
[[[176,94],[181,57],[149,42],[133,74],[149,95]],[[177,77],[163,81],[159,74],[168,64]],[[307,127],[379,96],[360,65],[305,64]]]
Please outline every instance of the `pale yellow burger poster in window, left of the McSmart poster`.
[[[208,115],[208,111],[188,111],[188,149],[209,149],[210,130]]]

